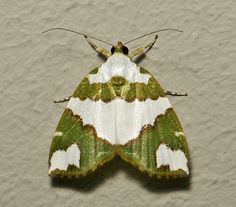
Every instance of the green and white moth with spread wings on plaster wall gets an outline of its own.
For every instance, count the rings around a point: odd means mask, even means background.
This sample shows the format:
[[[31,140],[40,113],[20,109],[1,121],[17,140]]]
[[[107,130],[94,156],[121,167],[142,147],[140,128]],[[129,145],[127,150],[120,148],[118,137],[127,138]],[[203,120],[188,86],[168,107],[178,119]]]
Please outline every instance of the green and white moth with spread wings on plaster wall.
[[[54,133],[49,152],[49,175],[83,177],[115,156],[156,178],[188,177],[189,150],[180,122],[157,79],[133,61],[150,50],[154,40],[129,52],[127,43],[116,45],[83,35],[106,62],[83,78],[69,101]],[[48,32],[47,30],[45,32]],[[178,31],[178,30],[175,30]],[[111,45],[98,47],[95,39]]]

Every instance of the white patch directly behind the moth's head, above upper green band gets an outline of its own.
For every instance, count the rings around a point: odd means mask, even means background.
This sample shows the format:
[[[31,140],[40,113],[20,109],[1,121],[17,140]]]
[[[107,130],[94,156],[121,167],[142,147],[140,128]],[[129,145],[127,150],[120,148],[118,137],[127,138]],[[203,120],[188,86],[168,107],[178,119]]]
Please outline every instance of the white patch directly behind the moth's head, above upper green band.
[[[114,54],[103,63],[97,74],[89,74],[88,79],[90,83],[105,83],[110,81],[113,76],[123,76],[131,83],[140,82],[148,83],[149,74],[140,73],[139,67],[130,61],[130,59],[120,53]]]

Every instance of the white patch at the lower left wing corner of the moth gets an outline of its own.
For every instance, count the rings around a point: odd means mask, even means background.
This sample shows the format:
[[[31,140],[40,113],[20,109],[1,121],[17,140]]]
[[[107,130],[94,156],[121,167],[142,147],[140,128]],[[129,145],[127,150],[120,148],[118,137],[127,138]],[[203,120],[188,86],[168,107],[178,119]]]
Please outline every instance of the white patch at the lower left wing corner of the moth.
[[[57,150],[53,153],[50,160],[51,166],[48,173],[50,174],[53,170],[67,170],[68,165],[74,165],[80,167],[80,150],[76,143],[72,144],[67,148],[66,151]]]

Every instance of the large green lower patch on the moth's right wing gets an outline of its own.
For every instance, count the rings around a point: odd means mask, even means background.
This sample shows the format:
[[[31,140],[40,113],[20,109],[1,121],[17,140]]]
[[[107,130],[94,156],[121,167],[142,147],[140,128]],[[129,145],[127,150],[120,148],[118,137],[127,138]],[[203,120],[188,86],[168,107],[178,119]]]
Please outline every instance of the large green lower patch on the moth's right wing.
[[[179,133],[179,134],[177,134]],[[181,150],[189,160],[189,151],[182,127],[172,108],[165,115],[156,117],[154,125],[147,125],[139,137],[119,146],[118,154],[143,172],[157,178],[185,177],[185,171],[170,170],[169,166],[157,167],[156,151],[166,144],[172,151]]]

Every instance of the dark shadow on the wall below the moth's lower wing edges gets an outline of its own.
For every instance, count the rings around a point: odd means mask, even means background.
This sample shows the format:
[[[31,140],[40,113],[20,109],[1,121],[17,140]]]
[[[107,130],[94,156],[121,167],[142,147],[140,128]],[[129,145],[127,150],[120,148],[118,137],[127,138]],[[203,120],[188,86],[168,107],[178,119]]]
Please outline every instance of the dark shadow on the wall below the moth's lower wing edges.
[[[91,192],[106,183],[109,179],[115,179],[115,175],[120,171],[125,172],[129,179],[134,180],[139,186],[151,192],[190,189],[190,178],[174,180],[158,180],[151,178],[119,157],[115,157],[112,161],[104,164],[95,172],[83,178],[52,178],[51,186],[56,188],[70,188],[84,193]]]

